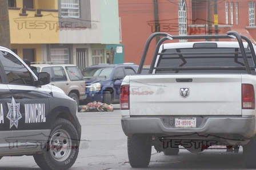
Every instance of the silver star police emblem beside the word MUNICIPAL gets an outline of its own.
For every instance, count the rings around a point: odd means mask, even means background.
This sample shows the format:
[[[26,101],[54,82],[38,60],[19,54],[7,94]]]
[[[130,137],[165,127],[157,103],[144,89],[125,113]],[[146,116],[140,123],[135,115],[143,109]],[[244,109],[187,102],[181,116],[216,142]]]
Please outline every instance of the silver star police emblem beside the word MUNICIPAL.
[[[20,103],[16,103],[14,98],[11,99],[11,103],[7,103],[9,111],[6,116],[7,119],[10,120],[10,128],[16,126],[18,128],[19,119],[22,118],[21,113],[19,112]]]

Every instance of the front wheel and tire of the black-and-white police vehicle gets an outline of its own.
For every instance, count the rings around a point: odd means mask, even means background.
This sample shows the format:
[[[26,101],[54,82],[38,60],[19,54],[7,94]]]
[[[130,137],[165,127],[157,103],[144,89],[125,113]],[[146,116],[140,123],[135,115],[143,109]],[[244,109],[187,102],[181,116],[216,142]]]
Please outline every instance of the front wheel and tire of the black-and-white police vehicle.
[[[60,140],[63,144],[60,150],[57,148],[58,144],[54,143],[58,141],[59,134],[62,135]],[[78,146],[79,136],[75,127],[66,119],[58,118],[53,123],[46,148],[42,154],[33,155],[34,160],[42,169],[69,169],[77,159]]]

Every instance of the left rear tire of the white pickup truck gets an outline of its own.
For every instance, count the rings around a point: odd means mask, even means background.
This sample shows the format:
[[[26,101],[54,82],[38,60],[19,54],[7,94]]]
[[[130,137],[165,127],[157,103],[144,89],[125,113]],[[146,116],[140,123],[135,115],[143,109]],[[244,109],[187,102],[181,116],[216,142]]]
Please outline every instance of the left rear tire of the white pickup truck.
[[[151,135],[133,135],[127,138],[127,151],[133,168],[146,168],[151,157]]]

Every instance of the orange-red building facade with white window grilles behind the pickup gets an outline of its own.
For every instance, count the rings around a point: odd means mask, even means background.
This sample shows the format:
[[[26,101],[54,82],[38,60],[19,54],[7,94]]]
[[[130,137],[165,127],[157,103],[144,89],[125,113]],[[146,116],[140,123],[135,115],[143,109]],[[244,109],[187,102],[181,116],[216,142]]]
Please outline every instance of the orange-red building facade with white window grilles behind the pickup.
[[[237,31],[256,40],[255,1],[223,0],[119,0],[125,62],[139,64],[147,38],[154,32],[170,35],[226,34]],[[147,55],[153,56],[158,39]],[[172,40],[171,42],[187,42]],[[146,65],[151,59],[147,56]]]

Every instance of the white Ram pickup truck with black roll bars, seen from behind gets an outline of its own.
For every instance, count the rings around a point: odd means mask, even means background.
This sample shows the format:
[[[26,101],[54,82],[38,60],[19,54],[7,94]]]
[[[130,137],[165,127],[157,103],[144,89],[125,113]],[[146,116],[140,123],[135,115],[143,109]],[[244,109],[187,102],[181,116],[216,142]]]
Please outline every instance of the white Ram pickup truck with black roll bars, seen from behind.
[[[162,39],[149,73],[141,74],[156,36]],[[171,39],[188,42],[165,43]],[[121,86],[121,122],[131,167],[147,167],[152,146],[165,155],[177,155],[181,147],[201,152],[211,146],[237,153],[242,146],[245,167],[256,168],[255,64],[255,45],[235,31],[152,34],[138,74],[126,76]]]

